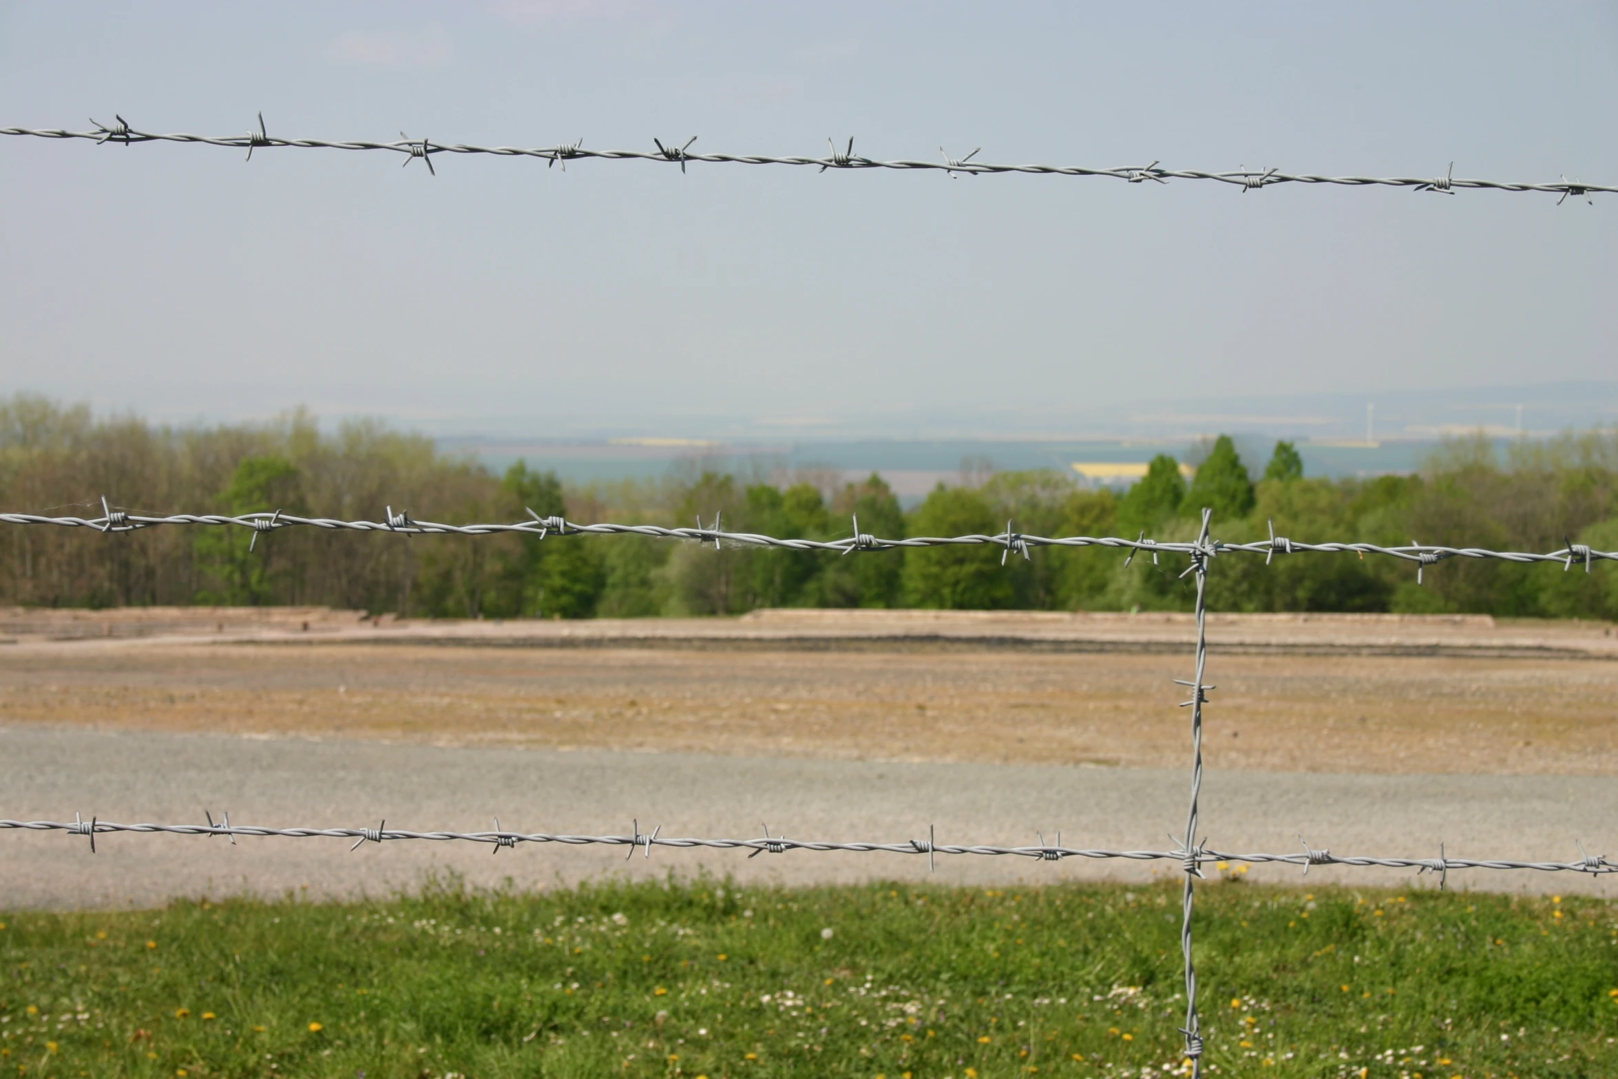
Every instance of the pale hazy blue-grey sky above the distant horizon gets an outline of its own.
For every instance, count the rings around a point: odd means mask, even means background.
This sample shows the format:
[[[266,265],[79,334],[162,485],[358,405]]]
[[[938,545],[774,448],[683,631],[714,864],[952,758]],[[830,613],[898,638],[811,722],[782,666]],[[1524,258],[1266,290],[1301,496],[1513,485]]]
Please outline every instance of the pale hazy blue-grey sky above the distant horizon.
[[[1618,5],[0,3],[0,126],[1618,183]],[[0,377],[162,419],[1050,430],[1618,379],[1618,197],[0,139]],[[830,427],[827,425],[830,424]]]

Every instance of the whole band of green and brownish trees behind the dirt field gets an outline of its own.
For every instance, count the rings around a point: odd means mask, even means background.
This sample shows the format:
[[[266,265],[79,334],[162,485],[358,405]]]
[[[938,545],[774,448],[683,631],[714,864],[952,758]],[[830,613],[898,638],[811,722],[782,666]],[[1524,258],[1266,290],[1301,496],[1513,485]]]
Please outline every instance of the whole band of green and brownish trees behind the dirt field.
[[[432,440],[353,422],[322,432],[306,416],[262,425],[154,427],[94,417],[18,395],[0,400],[0,510],[99,516],[105,493],[133,513],[251,513],[380,519],[383,506],[447,523],[518,521],[526,508],[570,521],[691,524],[723,514],[731,531],[841,539],[859,516],[883,537],[1000,532],[1039,535],[1196,534],[1212,506],[1215,537],[1469,544],[1557,550],[1568,537],[1618,548],[1618,432],[1513,445],[1455,440],[1414,476],[1330,480],[1302,474],[1281,442],[1254,474],[1230,438],[1197,453],[1186,482],[1170,456],[1123,495],[1055,471],[989,472],[940,485],[903,511],[870,476],[859,484],[767,472],[689,469],[657,482],[573,489],[518,463],[503,476]],[[1257,464],[1257,463],[1254,463]],[[1181,610],[1183,560],[1115,550],[1036,550],[1002,566],[1002,548],[940,547],[853,556],[644,537],[409,537],[286,529],[157,527],[123,535],[0,526],[0,603],[332,605],[411,616],[591,618],[728,615],[759,607],[950,607]],[[1181,565],[1176,565],[1181,561]],[[1416,584],[1409,563],[1293,555],[1273,565],[1231,556],[1209,578],[1215,610],[1487,611],[1618,616],[1618,566],[1563,573],[1450,560]]]

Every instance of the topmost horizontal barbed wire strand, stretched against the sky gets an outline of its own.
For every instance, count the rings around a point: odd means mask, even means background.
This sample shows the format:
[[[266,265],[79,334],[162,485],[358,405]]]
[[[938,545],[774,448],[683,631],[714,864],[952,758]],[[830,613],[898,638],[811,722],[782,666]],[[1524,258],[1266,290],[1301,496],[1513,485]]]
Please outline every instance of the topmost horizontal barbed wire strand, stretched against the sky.
[[[113,123],[104,125],[97,120],[91,120],[95,125],[94,131],[66,131],[61,128],[0,128],[0,134],[15,136],[31,136],[39,139],[87,139],[97,144],[116,142],[123,146],[133,146],[136,142],[191,142],[201,146],[218,146],[235,150],[246,150],[246,160],[252,160],[254,150],[280,149],[280,147],[296,147],[296,149],[325,149],[325,150],[383,150],[390,154],[404,155],[404,165],[413,160],[421,160],[427,165],[427,171],[437,175],[437,168],[432,165],[432,159],[438,154],[485,154],[492,157],[534,157],[545,162],[545,167],[561,165],[566,171],[568,162],[578,160],[639,160],[639,162],[659,162],[665,165],[680,165],[680,171],[686,171],[686,165],[691,162],[704,162],[710,165],[807,165],[819,168],[819,171],[827,171],[828,168],[885,168],[898,171],[942,171],[950,178],[956,176],[984,176],[984,175],[1005,175],[1005,173],[1024,173],[1037,176],[1103,176],[1110,180],[1123,180],[1125,183],[1168,183],[1170,180],[1204,180],[1222,184],[1230,184],[1243,193],[1259,191],[1270,188],[1273,184],[1298,183],[1298,184],[1333,184],[1343,188],[1409,188],[1413,191],[1432,191],[1437,194],[1455,194],[1463,189],[1477,191],[1539,191],[1545,194],[1557,194],[1557,205],[1568,201],[1569,196],[1582,197],[1586,202],[1594,205],[1590,199],[1592,193],[1613,194],[1618,188],[1590,184],[1578,180],[1568,180],[1561,176],[1557,183],[1508,183],[1500,180],[1472,180],[1472,178],[1456,178],[1455,162],[1450,162],[1448,171],[1443,176],[1324,176],[1314,173],[1283,173],[1278,168],[1247,168],[1246,165],[1236,168],[1235,171],[1207,171],[1199,168],[1163,168],[1162,162],[1154,160],[1149,165],[1118,165],[1110,168],[1095,168],[1086,165],[997,165],[990,162],[974,160],[982,147],[974,149],[964,157],[951,157],[943,147],[938,147],[938,160],[877,160],[870,157],[862,157],[854,154],[854,139],[849,138],[845,149],[838,149],[837,142],[827,139],[828,154],[820,157],[775,157],[764,154],[705,154],[693,152],[691,146],[697,141],[697,136],[691,136],[684,142],[678,139],[670,139],[663,142],[662,139],[652,139],[655,149],[646,150],[597,150],[587,149],[584,139],[574,142],[561,142],[557,146],[537,146],[537,147],[519,147],[519,146],[471,146],[466,142],[434,142],[432,139],[413,139],[403,131],[398,141],[388,142],[372,142],[364,139],[346,139],[346,141],[330,141],[330,139],[288,139],[282,136],[272,136],[264,123],[264,113],[259,113],[257,129],[249,128],[246,134],[223,134],[223,136],[207,136],[207,134],[183,134],[168,133],[160,134],[155,131],[139,131],[129,125],[121,115],[115,115]]]

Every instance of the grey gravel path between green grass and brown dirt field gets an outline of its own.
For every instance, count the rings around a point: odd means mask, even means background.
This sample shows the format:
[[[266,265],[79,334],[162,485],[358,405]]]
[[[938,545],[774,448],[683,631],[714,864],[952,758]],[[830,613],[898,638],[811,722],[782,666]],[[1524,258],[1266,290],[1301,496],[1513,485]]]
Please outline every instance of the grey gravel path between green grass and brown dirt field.
[[[265,741],[150,731],[0,728],[0,817],[626,833],[631,817],[665,835],[748,838],[769,822],[796,838],[1031,843],[1058,828],[1068,844],[1154,848],[1184,827],[1186,772],[989,764],[883,764],[704,754],[445,749],[375,741]],[[1338,854],[1557,857],[1618,851],[1618,785],[1595,776],[1322,775],[1210,772],[1204,827],[1226,849],[1293,851],[1301,831]],[[924,857],[665,851],[625,861],[613,848],[490,848],[338,840],[102,836],[97,854],[63,833],[0,833],[0,909],[146,906],[172,896],[307,890],[371,895],[455,870],[476,885],[578,882],[604,874],[733,874],[738,882],[820,883],[922,878]],[[1150,880],[1158,864],[1057,864],[942,857],[935,880],[1014,883]],[[1298,869],[1252,880],[1298,882]],[[1408,882],[1413,874],[1322,867],[1320,883]],[[1422,885],[1430,878],[1422,878]],[[1471,870],[1451,885],[1502,891],[1610,891],[1571,874]]]

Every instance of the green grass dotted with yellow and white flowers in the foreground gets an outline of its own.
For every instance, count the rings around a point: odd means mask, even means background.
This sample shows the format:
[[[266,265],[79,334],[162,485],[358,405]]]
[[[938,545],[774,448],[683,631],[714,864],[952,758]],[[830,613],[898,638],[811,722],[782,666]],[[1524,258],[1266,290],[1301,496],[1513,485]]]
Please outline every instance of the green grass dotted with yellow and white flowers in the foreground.
[[[0,1076],[1163,1076],[1178,906],[1171,886],[438,882],[0,914]],[[1197,911],[1214,1074],[1618,1074],[1605,901],[1214,883]]]

